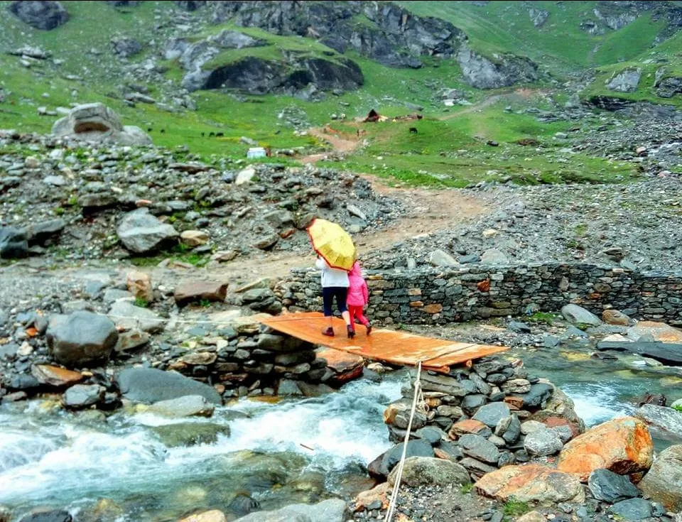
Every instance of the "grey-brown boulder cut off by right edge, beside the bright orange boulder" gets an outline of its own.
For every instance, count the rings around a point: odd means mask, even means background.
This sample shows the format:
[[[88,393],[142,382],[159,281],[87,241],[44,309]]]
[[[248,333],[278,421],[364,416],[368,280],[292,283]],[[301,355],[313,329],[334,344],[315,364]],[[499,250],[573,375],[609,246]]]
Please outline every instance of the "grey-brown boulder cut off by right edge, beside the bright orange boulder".
[[[659,453],[639,482],[639,489],[670,511],[682,512],[682,445],[667,447]]]

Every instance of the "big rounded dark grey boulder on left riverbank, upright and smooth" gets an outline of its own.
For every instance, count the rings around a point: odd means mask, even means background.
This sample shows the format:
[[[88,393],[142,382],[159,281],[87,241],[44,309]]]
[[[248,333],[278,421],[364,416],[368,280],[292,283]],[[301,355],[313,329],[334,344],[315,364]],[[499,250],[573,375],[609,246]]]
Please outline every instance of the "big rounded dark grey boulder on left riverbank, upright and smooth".
[[[46,336],[53,359],[70,367],[109,359],[119,337],[111,320],[85,311],[53,317]]]

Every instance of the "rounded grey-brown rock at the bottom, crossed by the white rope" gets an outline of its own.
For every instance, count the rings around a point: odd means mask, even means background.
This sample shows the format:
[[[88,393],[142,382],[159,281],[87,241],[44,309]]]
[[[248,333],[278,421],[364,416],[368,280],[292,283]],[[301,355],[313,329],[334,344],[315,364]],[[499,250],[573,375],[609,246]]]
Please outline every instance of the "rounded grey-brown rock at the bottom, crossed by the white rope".
[[[398,469],[394,468],[389,474],[389,484],[393,486]],[[450,460],[436,459],[433,457],[410,457],[405,460],[401,484],[410,487],[416,486],[448,486],[456,484],[462,486],[469,484],[467,470]]]

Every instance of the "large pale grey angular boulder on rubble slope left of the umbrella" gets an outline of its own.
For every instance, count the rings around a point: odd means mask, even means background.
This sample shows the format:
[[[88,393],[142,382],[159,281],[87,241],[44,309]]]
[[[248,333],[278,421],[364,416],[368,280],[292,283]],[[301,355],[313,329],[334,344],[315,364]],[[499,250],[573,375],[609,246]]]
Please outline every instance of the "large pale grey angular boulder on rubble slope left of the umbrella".
[[[121,219],[116,233],[126,249],[135,254],[146,254],[158,249],[166,241],[178,237],[173,225],[160,222],[149,213],[148,208],[140,208],[126,214]]]

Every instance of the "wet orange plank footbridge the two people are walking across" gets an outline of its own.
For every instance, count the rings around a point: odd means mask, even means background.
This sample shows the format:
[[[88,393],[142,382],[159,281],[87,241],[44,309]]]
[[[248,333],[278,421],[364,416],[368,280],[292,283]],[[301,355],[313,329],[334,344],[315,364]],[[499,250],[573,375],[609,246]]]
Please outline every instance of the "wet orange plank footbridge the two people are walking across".
[[[448,373],[453,364],[480,359],[480,357],[509,349],[509,347],[433,339],[394,330],[372,330],[372,335],[367,337],[364,334],[364,327],[360,325],[356,325],[355,338],[348,339],[345,323],[338,318],[332,319],[331,322],[337,335],[328,337],[322,335],[322,331],[330,325],[330,320],[319,312],[285,314],[277,317],[259,315],[256,319],[278,332],[313,344],[357,354],[365,359],[393,364],[416,366],[418,361],[421,361],[424,369],[442,373]]]

